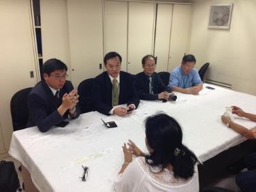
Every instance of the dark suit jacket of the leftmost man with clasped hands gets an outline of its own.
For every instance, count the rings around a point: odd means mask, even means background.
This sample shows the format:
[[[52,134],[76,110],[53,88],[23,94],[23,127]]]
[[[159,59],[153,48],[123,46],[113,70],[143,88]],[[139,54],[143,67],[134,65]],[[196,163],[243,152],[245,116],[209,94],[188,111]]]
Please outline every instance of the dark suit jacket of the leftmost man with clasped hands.
[[[40,131],[46,132],[52,126],[58,126],[61,121],[68,117],[68,110],[63,116],[59,114],[57,108],[62,103],[62,97],[65,93],[69,93],[74,89],[70,81],[66,80],[64,86],[59,91],[59,99],[55,98],[46,82],[38,82],[31,92],[27,100],[29,108],[29,121],[27,127],[37,126]],[[80,115],[80,109],[76,105],[76,116]]]

